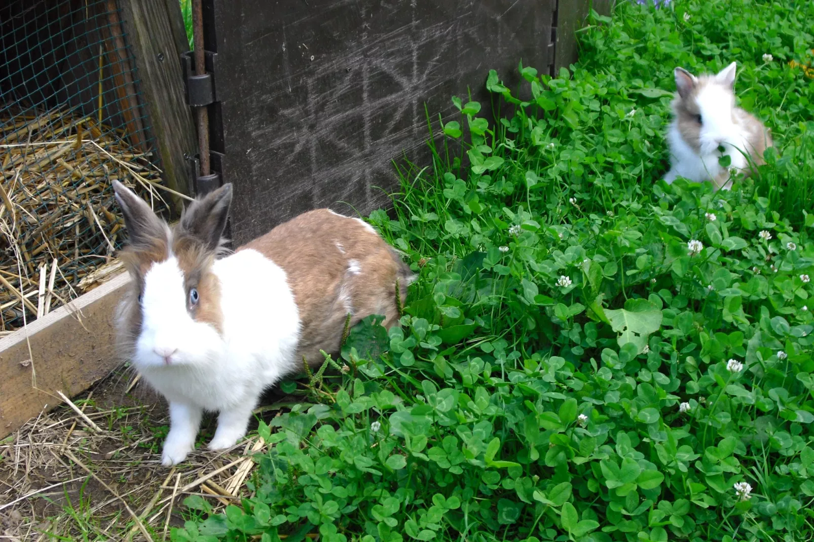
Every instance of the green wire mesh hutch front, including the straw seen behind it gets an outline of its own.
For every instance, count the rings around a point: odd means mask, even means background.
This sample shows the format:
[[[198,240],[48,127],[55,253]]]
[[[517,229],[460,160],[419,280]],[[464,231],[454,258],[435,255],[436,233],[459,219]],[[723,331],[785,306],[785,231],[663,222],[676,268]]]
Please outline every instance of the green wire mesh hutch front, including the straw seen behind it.
[[[112,268],[118,179],[166,212],[115,0],[0,5],[0,336]]]

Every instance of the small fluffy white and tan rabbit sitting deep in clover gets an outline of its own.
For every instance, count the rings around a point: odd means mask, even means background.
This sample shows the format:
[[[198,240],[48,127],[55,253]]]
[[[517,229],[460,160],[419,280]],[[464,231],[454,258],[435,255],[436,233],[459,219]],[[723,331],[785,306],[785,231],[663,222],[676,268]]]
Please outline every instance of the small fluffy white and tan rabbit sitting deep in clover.
[[[750,161],[755,165],[764,163],[764,151],[772,146],[772,135],[755,116],[735,106],[734,62],[716,75],[694,76],[684,68],[676,68],[675,76],[678,93],[672,102],[673,120],[667,132],[671,168],[664,180],[672,183],[676,177],[685,177],[689,181],[713,181],[729,190],[729,170],[751,174]],[[729,168],[718,163],[721,155],[729,155]]]

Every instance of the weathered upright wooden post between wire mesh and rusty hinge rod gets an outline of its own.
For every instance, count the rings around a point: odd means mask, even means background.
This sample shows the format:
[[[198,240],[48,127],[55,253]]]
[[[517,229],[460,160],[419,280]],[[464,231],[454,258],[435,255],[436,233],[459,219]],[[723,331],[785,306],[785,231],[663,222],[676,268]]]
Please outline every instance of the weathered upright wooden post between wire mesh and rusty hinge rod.
[[[138,68],[139,86],[149,111],[164,183],[191,194],[190,164],[195,155],[195,125],[184,94],[179,55],[188,49],[177,0],[119,0],[127,41]],[[175,199],[177,209],[181,202]]]

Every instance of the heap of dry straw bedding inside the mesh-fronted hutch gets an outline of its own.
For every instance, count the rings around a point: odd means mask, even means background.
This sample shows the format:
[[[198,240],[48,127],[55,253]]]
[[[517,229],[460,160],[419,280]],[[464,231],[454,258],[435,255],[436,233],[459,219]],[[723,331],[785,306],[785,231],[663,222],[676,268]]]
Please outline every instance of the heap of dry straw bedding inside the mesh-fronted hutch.
[[[168,208],[150,155],[90,116],[0,112],[0,337],[68,303],[116,265],[124,223],[113,179],[159,212]]]

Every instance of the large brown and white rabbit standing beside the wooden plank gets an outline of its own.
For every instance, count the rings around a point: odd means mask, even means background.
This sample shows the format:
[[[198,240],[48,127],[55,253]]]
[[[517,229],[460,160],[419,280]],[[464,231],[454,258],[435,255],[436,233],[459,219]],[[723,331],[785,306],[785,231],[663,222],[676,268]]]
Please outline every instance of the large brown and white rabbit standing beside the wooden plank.
[[[190,203],[170,226],[113,181],[133,278],[116,315],[120,345],[169,403],[162,464],[183,461],[201,415],[219,412],[210,449],[230,448],[247,430],[260,394],[320,349],[338,352],[350,325],[370,314],[398,320],[409,268],[357,218],[306,212],[224,256],[227,184]]]

